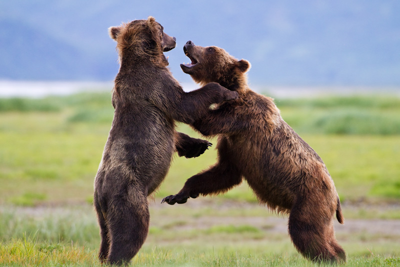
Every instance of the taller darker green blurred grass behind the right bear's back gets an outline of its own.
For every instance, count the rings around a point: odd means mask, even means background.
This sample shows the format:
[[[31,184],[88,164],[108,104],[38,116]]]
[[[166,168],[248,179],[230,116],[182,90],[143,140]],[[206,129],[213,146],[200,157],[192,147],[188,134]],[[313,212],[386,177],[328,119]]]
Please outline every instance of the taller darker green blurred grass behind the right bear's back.
[[[285,121],[300,133],[400,134],[400,99],[397,97],[324,97],[275,102]]]

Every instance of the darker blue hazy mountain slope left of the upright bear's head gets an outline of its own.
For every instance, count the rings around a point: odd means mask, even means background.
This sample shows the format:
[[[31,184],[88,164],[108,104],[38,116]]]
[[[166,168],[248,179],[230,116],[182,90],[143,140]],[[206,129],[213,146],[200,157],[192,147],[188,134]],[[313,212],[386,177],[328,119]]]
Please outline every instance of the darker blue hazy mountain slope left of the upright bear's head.
[[[89,66],[79,47],[19,21],[0,21],[0,28],[3,78],[69,79],[87,75],[84,69]],[[79,59],[82,62],[77,62]]]

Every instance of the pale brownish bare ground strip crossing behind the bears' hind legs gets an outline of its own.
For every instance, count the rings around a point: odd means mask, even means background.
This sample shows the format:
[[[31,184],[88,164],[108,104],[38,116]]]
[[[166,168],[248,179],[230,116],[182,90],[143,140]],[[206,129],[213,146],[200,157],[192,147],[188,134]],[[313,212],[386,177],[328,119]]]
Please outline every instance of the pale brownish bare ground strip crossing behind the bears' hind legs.
[[[234,201],[214,201],[213,199],[189,199],[186,204],[173,206],[160,204],[160,199],[149,201],[151,213],[150,226],[165,227],[168,229],[179,228],[179,230],[201,230],[213,226],[224,225],[248,225],[265,231],[287,234],[287,215],[278,215],[268,211],[266,207],[255,203],[243,203]],[[344,214],[356,214],[360,209],[388,210],[391,213],[400,213],[400,203],[394,204],[347,204],[342,205]],[[13,212],[20,217],[56,217],[66,213],[83,213],[88,218],[92,208],[88,204],[68,205],[45,205],[37,207],[6,207],[0,206],[0,213],[3,211]],[[87,218],[86,217],[86,218]],[[400,219],[357,219],[356,215],[346,218],[344,225],[336,220],[334,223],[336,234],[368,233],[376,235],[391,236],[398,238],[400,242]]]

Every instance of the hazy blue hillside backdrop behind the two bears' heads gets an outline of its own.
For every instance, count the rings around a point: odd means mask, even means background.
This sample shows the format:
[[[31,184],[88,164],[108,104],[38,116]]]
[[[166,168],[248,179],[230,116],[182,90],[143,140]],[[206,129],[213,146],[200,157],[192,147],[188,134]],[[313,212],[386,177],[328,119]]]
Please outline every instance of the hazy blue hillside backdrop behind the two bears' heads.
[[[177,38],[181,82],[190,39],[248,59],[252,84],[400,86],[399,12],[395,0],[1,1],[0,79],[112,80],[107,28],[153,15]]]

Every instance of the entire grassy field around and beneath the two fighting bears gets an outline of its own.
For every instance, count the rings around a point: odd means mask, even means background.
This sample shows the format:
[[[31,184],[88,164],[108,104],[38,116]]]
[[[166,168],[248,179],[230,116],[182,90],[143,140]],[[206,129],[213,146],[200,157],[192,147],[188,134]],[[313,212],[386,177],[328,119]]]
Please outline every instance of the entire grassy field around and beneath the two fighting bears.
[[[350,226],[361,219],[371,227],[377,219],[400,220],[400,99],[275,102],[325,162]],[[90,204],[112,112],[109,93],[0,99],[0,266],[98,265],[98,227]],[[159,204],[215,156],[210,149],[195,159],[174,159],[150,200],[150,232],[134,265],[312,265],[293,249],[285,218],[259,206],[245,183],[187,205]],[[336,236],[348,266],[400,266],[397,232],[340,227]]]

